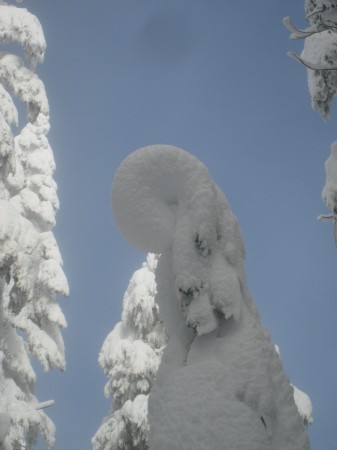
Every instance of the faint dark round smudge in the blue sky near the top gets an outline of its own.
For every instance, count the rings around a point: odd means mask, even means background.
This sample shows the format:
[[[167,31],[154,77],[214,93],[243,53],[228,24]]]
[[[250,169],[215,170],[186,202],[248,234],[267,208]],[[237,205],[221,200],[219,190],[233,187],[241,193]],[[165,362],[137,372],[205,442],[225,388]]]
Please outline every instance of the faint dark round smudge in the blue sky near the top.
[[[159,63],[186,60],[196,43],[191,17],[173,9],[162,9],[148,17],[136,35],[140,56]]]

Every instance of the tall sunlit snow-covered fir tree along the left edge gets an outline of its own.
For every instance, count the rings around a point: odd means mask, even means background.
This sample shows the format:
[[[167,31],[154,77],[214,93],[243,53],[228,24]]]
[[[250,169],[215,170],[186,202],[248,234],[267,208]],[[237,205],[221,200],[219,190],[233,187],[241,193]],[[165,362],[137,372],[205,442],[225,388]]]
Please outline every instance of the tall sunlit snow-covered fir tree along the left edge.
[[[11,43],[25,61],[6,52]],[[68,284],[52,232],[59,202],[48,99],[35,73],[46,49],[38,19],[0,1],[0,45],[0,447],[32,448],[40,433],[51,448],[55,426],[34,395],[31,356],[45,371],[64,370],[56,295],[68,295]]]

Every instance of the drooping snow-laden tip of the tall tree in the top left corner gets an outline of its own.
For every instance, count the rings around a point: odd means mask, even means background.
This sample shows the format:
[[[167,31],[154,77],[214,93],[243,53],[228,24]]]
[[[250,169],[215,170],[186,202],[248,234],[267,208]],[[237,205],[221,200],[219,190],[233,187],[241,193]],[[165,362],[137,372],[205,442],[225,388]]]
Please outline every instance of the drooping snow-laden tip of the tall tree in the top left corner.
[[[0,4],[0,40],[20,44],[32,68],[43,61],[46,41],[41,24],[24,8]]]

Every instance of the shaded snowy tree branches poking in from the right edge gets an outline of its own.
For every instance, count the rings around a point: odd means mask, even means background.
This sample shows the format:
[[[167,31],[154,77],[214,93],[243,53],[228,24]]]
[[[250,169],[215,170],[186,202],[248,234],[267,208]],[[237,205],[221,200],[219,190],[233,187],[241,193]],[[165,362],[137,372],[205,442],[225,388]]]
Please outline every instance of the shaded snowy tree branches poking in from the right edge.
[[[283,19],[291,31],[291,39],[304,39],[301,56],[289,52],[290,56],[307,67],[308,86],[312,107],[327,119],[337,95],[337,1],[305,0],[306,19],[310,26],[305,30],[296,28],[289,17]],[[331,214],[319,216],[332,221],[337,246],[337,156],[336,142],[332,144],[331,156],[325,163],[326,182],[322,197]]]

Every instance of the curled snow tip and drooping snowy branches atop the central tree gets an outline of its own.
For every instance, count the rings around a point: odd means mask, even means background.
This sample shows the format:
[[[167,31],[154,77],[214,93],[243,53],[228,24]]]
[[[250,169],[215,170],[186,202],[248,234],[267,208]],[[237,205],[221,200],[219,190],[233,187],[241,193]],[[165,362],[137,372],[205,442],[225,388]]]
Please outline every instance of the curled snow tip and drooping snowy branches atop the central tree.
[[[238,319],[244,247],[236,217],[206,166],[171,145],[131,153],[112,186],[114,216],[125,238],[146,252],[172,250],[174,284],[198,334]]]

